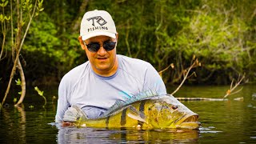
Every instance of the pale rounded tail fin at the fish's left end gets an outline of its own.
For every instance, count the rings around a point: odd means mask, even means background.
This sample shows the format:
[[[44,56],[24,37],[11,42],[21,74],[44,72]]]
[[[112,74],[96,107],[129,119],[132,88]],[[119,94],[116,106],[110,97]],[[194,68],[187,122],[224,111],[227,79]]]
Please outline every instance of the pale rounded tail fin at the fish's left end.
[[[81,119],[87,119],[86,114],[76,105],[69,107],[62,118],[64,122],[78,122]]]

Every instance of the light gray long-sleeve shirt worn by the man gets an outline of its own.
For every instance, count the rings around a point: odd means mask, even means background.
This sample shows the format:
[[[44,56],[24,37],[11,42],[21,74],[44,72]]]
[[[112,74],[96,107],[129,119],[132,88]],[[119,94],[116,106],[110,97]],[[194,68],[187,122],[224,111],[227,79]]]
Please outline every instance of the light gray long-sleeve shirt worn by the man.
[[[97,118],[117,100],[126,101],[147,90],[166,94],[162,78],[149,62],[117,56],[118,70],[110,77],[95,74],[90,62],[85,62],[62,78],[55,122],[62,122],[65,111],[72,105],[80,106],[88,118]]]

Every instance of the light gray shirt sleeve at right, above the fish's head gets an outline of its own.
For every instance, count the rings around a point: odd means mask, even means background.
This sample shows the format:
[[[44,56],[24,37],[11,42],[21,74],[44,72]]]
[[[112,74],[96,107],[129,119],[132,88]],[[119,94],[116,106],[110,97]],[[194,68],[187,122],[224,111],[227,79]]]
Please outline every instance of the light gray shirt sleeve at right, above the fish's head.
[[[152,92],[156,92],[158,95],[167,94],[166,86],[162,81],[162,78],[151,64],[149,64],[145,73],[143,90],[151,90]]]

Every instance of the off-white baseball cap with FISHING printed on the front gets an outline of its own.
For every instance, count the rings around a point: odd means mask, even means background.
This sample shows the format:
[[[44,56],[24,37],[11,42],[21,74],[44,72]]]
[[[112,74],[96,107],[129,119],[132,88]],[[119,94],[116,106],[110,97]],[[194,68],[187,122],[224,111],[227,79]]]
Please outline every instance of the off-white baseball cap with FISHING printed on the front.
[[[106,35],[111,38],[116,38],[117,30],[111,15],[105,10],[88,11],[83,15],[80,35],[82,40]]]

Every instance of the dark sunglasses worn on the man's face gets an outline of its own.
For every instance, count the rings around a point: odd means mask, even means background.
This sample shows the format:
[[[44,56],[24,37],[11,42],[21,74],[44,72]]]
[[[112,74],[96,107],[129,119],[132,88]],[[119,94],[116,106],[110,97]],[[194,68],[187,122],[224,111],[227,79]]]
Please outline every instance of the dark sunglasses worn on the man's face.
[[[84,42],[84,43],[86,45],[86,42]],[[114,49],[115,44],[116,44],[116,42],[106,41],[106,42],[103,42],[103,48],[106,51],[110,51],[110,50]],[[98,42],[92,42],[92,43],[89,43],[86,46],[87,46],[87,49],[91,52],[97,52],[99,50],[99,48],[101,47],[101,45]]]

